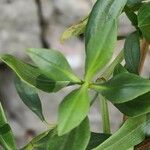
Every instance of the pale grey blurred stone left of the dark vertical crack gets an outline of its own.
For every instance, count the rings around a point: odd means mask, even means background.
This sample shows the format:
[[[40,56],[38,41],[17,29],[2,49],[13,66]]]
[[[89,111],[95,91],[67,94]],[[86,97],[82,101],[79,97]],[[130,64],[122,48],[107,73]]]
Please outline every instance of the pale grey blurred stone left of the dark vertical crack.
[[[0,14],[0,53],[24,57],[24,49],[41,46],[34,0],[3,0]]]

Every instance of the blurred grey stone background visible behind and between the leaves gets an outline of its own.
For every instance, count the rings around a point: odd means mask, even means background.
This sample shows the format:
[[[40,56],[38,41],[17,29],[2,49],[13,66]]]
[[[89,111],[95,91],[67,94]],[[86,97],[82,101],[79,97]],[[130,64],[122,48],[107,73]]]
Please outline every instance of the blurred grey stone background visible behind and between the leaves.
[[[72,68],[83,77],[84,38],[73,37],[63,45],[60,36],[72,24],[87,16],[94,0],[0,0],[0,53],[10,53],[28,61],[27,48],[52,48],[61,51]],[[119,20],[119,35],[133,31],[130,21],[122,15]],[[123,48],[124,41],[118,41],[114,57]],[[113,58],[114,58],[113,57]],[[143,70],[143,76],[150,75],[149,55]],[[44,114],[50,123],[57,121],[60,101],[71,88],[58,93],[47,94],[39,91]],[[18,97],[11,70],[0,62],[0,101],[7,113],[19,147],[32,136],[46,130],[44,124],[22,103]],[[121,113],[110,104],[112,132],[122,121]],[[102,131],[100,105],[97,102],[89,113],[91,130]]]

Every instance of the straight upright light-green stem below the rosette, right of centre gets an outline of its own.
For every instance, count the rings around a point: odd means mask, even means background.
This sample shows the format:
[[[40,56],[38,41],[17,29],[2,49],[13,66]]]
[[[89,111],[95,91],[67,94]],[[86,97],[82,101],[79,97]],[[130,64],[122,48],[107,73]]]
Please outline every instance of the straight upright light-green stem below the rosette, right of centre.
[[[106,134],[110,134],[111,131],[110,131],[108,103],[103,96],[99,96],[99,99],[100,99],[100,109],[102,115],[103,132]]]

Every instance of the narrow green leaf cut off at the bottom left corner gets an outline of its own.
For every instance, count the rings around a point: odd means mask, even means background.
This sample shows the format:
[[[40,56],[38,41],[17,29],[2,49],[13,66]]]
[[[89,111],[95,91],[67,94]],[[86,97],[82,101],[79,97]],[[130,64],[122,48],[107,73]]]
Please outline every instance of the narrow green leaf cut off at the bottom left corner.
[[[11,127],[7,122],[1,104],[0,104],[0,145],[3,146],[5,150],[17,149]]]

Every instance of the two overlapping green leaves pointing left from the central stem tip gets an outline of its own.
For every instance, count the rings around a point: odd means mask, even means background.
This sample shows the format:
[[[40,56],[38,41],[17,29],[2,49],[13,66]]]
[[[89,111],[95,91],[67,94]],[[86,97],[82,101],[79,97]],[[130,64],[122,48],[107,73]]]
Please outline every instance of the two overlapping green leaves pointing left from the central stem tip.
[[[81,82],[73,74],[71,67],[60,52],[45,49],[30,49],[28,53],[31,55],[31,58],[34,57],[35,61],[38,58],[38,61],[36,61],[37,66],[40,65],[42,67],[44,65],[47,69],[41,69],[40,67],[39,69],[26,64],[11,55],[1,55],[0,59],[24,82],[45,92],[56,92],[67,85]]]

